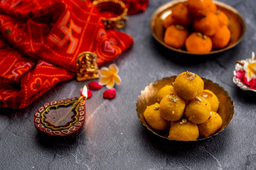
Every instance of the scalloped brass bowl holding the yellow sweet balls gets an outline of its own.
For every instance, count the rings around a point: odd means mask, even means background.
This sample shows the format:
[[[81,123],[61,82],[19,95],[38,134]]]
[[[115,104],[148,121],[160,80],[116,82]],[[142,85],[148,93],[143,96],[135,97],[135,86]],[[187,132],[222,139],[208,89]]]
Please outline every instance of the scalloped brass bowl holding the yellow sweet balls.
[[[158,91],[165,85],[171,85],[175,79],[176,76],[165,77],[164,79],[159,79],[149,84],[149,86],[146,86],[145,89],[141,91],[141,94],[139,95],[136,103],[137,114],[142,124],[155,135],[158,135],[159,137],[162,137],[166,140],[170,140],[168,138],[169,128],[164,131],[154,130],[146,123],[143,113],[146,109],[146,106],[156,103],[156,94],[158,93]],[[213,93],[218,97],[218,100],[220,101],[218,114],[223,120],[223,125],[221,125],[220,129],[215,132],[215,134],[207,137],[210,138],[214,135],[218,135],[219,132],[223,131],[224,128],[228,126],[228,123],[230,123],[234,115],[234,103],[231,100],[230,96],[228,96],[228,92],[225,91],[223,87],[213,83],[213,81],[209,79],[202,79],[204,82],[204,89],[209,89],[210,91],[213,91]],[[205,139],[206,138],[200,136],[196,141]]]

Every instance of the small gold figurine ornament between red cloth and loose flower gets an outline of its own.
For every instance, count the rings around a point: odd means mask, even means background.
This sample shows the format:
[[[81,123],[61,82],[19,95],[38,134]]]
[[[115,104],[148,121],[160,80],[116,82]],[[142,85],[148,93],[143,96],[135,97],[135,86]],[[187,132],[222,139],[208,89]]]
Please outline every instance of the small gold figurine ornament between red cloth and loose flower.
[[[92,52],[82,52],[76,60],[77,80],[98,79],[97,55]]]

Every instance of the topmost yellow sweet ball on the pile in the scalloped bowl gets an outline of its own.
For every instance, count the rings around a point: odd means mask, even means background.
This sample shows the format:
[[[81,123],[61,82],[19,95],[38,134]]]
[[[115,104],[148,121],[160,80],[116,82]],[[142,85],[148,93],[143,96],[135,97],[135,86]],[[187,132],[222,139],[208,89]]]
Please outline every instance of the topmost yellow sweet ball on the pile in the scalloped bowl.
[[[176,77],[174,89],[178,96],[189,101],[203,92],[203,80],[192,72],[183,72]]]

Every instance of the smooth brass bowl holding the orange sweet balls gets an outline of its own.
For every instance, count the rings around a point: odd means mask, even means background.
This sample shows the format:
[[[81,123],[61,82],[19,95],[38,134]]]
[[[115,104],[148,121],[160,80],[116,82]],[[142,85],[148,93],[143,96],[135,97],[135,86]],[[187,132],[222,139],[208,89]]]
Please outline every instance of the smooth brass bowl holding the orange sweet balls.
[[[186,50],[176,49],[174,47],[170,47],[169,45],[166,45],[164,42],[164,32],[165,28],[163,26],[163,21],[166,18],[166,16],[169,16],[171,13],[171,9],[176,6],[179,2],[184,2],[186,0],[175,0],[175,1],[169,1],[166,4],[160,6],[156,9],[156,11],[151,16],[150,21],[150,28],[151,33],[153,37],[161,44],[164,45],[164,47],[169,48],[170,50],[174,50],[176,52],[181,52],[188,55],[211,55],[218,52],[223,52],[225,50],[229,50],[232,47],[235,47],[235,45],[238,45],[238,43],[242,40],[243,35],[245,35],[245,20],[242,18],[242,15],[233,7],[228,6],[227,4],[224,4],[220,1],[213,1],[217,9],[220,11],[223,11],[230,20],[230,25],[228,28],[230,29],[231,38],[228,45],[222,49],[219,50],[212,50],[206,54],[196,54],[192,52],[188,52]]]

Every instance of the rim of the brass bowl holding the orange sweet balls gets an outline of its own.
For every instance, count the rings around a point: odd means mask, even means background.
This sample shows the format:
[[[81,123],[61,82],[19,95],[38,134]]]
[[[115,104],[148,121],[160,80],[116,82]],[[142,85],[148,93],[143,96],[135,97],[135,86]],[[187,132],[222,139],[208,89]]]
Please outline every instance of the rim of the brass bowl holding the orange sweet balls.
[[[235,8],[233,8],[232,6],[229,6],[228,4],[225,4],[221,1],[213,0],[213,2],[217,6],[221,6],[223,8],[228,9],[229,11],[235,13],[238,16],[238,18],[240,18],[240,20],[242,21],[242,34],[240,35],[240,38],[237,40],[237,42],[235,42],[233,45],[230,45],[228,47],[224,47],[223,49],[210,51],[210,52],[204,53],[204,54],[188,52],[188,51],[185,51],[185,50],[179,50],[179,49],[176,49],[176,48],[171,47],[169,45],[166,45],[166,43],[164,43],[164,41],[162,41],[162,40],[159,40],[159,38],[154,33],[154,24],[153,24],[154,23],[154,18],[159,13],[161,13],[161,11],[164,11],[164,9],[170,8],[171,6],[174,6],[175,4],[178,4],[179,2],[184,2],[184,1],[187,1],[187,0],[174,0],[174,1],[166,2],[165,4],[162,4],[161,6],[159,6],[159,8],[156,8],[156,11],[154,11],[154,13],[152,14],[152,16],[150,18],[150,22],[149,22],[149,27],[150,27],[150,30],[151,30],[151,34],[153,35],[154,39],[157,40],[157,42],[159,42],[161,45],[164,45],[164,47],[169,48],[169,50],[173,50],[175,52],[180,52],[180,53],[183,53],[183,54],[186,54],[186,55],[202,56],[202,55],[213,55],[213,54],[216,54],[216,53],[224,52],[226,50],[230,50],[231,48],[235,47],[236,45],[238,45],[242,41],[242,38],[244,37],[245,31],[246,31],[246,23],[245,23],[245,19],[241,15],[241,13],[239,11],[237,11]]]

